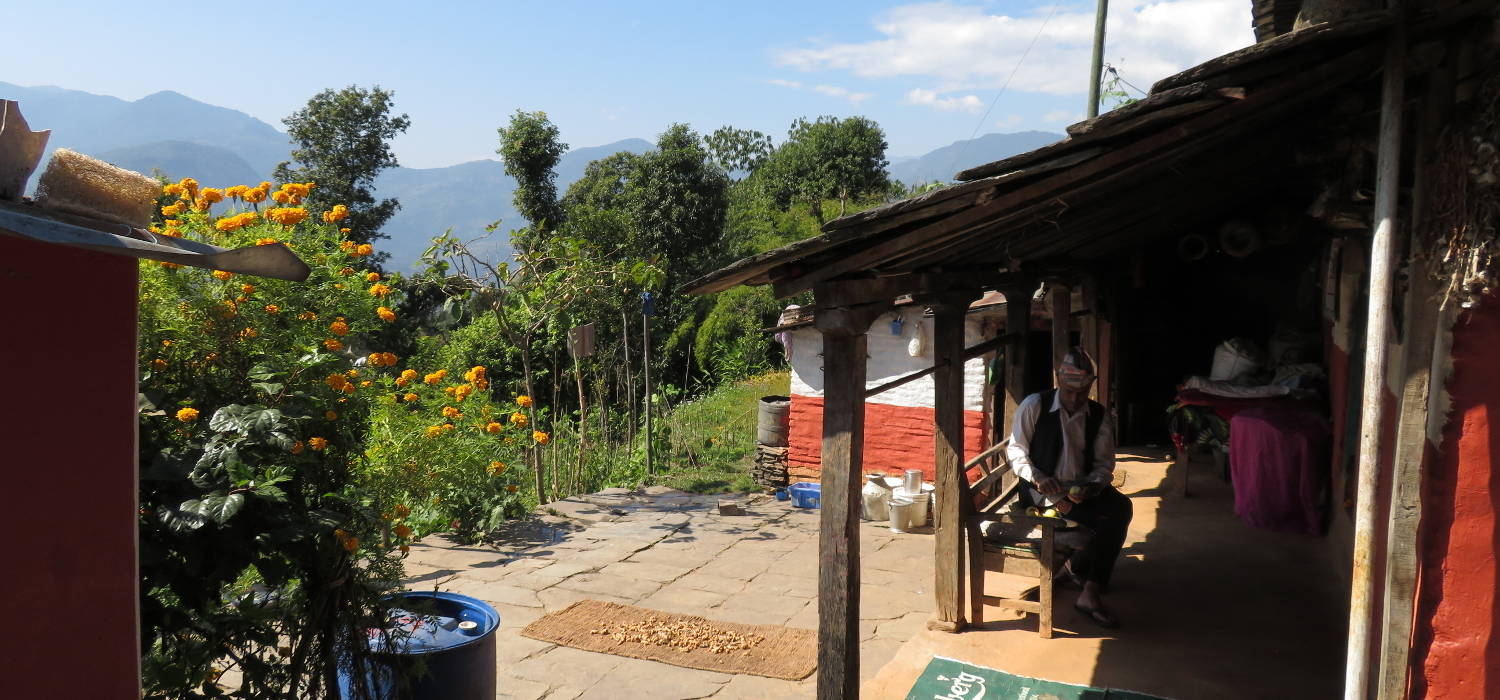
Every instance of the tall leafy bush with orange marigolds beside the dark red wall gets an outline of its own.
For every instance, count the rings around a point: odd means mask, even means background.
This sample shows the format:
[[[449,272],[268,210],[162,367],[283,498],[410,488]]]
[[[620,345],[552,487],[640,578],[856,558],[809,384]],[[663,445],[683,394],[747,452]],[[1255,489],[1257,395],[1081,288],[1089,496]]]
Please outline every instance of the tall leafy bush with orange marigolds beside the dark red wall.
[[[380,304],[399,294],[364,277],[378,273],[333,223],[237,216],[188,207],[159,229],[286,244],[312,273],[141,264],[142,682],[147,697],[214,696],[236,666],[240,697],[330,697],[336,652],[400,579],[378,504],[354,486],[370,399],[357,378],[374,370],[348,349],[380,349],[394,313]]]

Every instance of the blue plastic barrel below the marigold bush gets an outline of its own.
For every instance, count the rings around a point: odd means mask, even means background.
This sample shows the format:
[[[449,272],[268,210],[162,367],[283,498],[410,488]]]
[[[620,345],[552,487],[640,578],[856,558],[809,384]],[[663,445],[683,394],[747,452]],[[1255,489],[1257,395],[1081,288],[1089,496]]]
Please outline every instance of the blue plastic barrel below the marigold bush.
[[[372,700],[494,700],[500,628],[494,607],[435,591],[406,591],[386,601],[390,622],[369,630],[372,654],[364,678]],[[358,699],[352,681],[351,669],[342,669],[345,699]]]

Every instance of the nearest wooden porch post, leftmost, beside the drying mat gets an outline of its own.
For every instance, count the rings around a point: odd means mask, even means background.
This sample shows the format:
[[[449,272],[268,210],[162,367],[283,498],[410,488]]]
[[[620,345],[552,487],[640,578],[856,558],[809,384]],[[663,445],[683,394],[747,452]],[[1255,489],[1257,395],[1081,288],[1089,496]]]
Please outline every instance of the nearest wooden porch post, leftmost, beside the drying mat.
[[[830,283],[832,286],[837,283]],[[828,298],[825,286],[814,292]],[[822,504],[818,540],[818,697],[860,697],[860,471],[866,331],[888,303],[818,307],[824,336]]]

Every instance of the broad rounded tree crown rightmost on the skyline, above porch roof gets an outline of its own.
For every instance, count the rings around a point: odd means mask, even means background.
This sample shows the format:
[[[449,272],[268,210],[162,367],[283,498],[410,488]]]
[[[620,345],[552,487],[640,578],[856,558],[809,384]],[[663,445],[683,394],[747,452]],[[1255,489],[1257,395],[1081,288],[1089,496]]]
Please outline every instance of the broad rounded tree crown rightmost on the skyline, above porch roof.
[[[798,118],[758,171],[760,187],[783,208],[808,204],[819,222],[824,199],[838,199],[843,216],[850,199],[888,189],[885,147],[885,132],[866,117]]]

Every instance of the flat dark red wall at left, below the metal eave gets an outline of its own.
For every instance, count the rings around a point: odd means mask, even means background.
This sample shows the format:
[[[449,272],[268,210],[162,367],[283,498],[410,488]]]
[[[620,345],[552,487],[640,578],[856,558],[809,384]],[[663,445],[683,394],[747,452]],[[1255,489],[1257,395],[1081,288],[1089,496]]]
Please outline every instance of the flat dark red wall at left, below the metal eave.
[[[140,697],[136,262],[0,234],[0,694]]]

